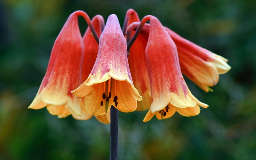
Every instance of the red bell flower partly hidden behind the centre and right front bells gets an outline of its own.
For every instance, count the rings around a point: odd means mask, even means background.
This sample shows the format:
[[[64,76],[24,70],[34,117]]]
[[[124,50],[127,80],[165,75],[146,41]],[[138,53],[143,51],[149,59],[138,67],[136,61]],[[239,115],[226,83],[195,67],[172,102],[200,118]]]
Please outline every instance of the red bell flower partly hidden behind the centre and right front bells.
[[[127,21],[127,26],[129,26],[132,22],[140,22],[140,19],[138,14],[133,9],[129,9],[126,12],[125,21]],[[139,91],[140,95],[143,97],[141,101],[137,102],[136,110],[146,110],[151,105],[151,93],[147,62],[145,57],[146,46],[147,39],[139,35],[133,43],[132,47],[130,48],[128,56],[133,84]]]

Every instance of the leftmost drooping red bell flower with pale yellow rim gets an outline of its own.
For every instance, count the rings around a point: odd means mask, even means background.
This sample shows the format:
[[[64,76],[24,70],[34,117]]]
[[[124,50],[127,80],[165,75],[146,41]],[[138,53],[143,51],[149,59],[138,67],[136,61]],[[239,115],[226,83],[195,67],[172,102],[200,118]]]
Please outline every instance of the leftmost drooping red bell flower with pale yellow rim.
[[[72,13],[60,31],[52,48],[44,79],[28,108],[40,109],[47,106],[52,115],[64,118],[72,114],[77,119],[91,118],[78,97],[71,93],[79,86],[80,68],[84,53],[83,39],[78,27],[78,16]]]

